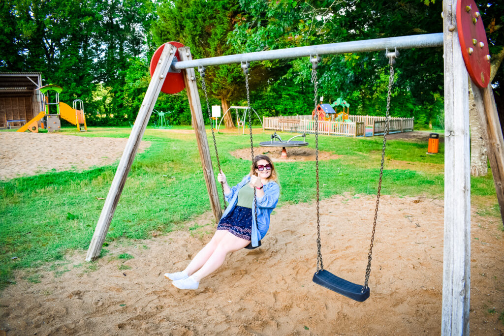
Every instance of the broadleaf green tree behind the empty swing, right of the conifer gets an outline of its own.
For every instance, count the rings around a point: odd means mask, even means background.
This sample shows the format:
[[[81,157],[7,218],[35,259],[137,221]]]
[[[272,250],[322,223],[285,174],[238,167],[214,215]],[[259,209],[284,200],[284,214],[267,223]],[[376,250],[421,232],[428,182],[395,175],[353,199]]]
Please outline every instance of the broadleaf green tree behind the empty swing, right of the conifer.
[[[232,41],[245,51],[442,31],[440,2],[426,6],[423,2],[241,0],[240,4],[245,14]],[[439,97],[443,83],[442,53],[442,48],[401,50],[394,111],[403,115],[406,111],[404,116],[422,114],[417,120],[427,124],[435,118],[439,111],[434,109],[438,105],[434,97]],[[320,95],[350,100],[354,113],[384,112],[385,95],[376,94],[388,80],[383,52],[324,55],[318,72]],[[300,75],[308,81],[309,68]],[[416,106],[424,108],[412,108]]]

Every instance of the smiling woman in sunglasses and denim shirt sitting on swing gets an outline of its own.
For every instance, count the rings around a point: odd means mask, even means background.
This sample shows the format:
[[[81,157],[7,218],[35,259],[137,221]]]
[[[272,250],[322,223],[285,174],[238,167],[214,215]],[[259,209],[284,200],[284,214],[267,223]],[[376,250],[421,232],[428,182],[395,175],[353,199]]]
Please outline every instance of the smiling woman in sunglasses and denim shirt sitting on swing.
[[[224,186],[229,206],[217,225],[217,232],[185,270],[164,275],[179,289],[197,289],[203,278],[224,263],[228,253],[248,245],[259,246],[270,226],[270,214],[277,206],[280,195],[277,173],[273,162],[266,155],[256,156],[250,173],[234,187],[229,187],[222,170],[217,175],[217,180]],[[254,188],[257,208],[254,205]],[[255,211],[257,218],[254,216]]]

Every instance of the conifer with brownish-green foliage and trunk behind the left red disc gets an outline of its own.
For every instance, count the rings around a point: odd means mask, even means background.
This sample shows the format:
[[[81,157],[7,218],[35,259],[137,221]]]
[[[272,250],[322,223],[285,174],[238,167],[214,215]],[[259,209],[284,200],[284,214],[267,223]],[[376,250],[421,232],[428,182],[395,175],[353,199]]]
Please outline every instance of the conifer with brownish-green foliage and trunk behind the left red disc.
[[[176,0],[163,3],[158,9],[158,22],[153,26],[158,43],[178,41],[191,47],[193,58],[230,55],[240,52],[228,35],[240,20],[237,0]],[[176,18],[176,19],[175,19]],[[276,67],[278,62],[251,64],[250,90],[268,84],[270,79],[284,74],[288,67]],[[209,93],[221,102],[223,113],[230,102],[246,98],[243,72],[239,64],[211,66],[206,70]],[[226,127],[235,127],[231,113],[224,118]]]

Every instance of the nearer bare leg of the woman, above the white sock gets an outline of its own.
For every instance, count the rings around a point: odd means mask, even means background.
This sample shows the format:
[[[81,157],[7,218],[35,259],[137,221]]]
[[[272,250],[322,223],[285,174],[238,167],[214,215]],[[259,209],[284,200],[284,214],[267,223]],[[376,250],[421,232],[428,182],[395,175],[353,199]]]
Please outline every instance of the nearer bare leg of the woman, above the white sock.
[[[200,270],[193,274],[192,278],[200,282],[203,278],[212,274],[217,268],[222,266],[226,255],[229,252],[234,252],[242,249],[250,243],[250,240],[245,240],[243,238],[236,237],[232,233],[225,232],[224,238],[219,242],[217,248],[208,258],[205,264],[200,268]]]

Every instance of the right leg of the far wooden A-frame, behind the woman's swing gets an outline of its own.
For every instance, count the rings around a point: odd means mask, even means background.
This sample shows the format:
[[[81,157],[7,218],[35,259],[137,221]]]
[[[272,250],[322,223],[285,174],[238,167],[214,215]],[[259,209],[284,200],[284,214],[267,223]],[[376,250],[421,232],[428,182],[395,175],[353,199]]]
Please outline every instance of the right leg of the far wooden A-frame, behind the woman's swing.
[[[180,60],[192,60],[189,47],[178,48]],[[198,94],[198,86],[196,83],[196,74],[194,68],[182,70],[184,74],[185,90],[187,90],[187,99],[191,108],[193,124],[196,133],[196,142],[200,151],[201,165],[203,167],[203,176],[207,184],[208,196],[210,198],[210,207],[214,214],[215,222],[219,222],[222,217],[222,209],[219,201],[219,193],[215,183],[214,169],[210,158],[210,148],[208,147],[207,131],[205,130],[205,121],[203,119],[203,111],[201,109],[200,95]],[[238,129],[239,131],[239,129]]]

